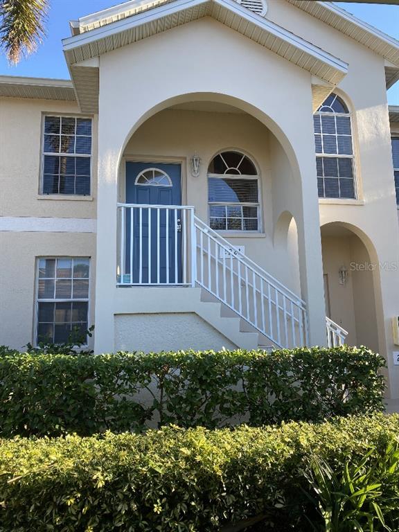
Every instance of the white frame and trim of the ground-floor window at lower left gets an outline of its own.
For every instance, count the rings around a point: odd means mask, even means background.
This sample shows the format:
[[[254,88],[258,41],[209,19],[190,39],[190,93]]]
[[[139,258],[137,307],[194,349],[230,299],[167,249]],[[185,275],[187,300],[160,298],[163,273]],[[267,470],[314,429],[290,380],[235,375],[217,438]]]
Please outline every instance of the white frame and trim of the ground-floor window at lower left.
[[[39,262],[41,259],[57,259],[57,258],[88,258],[89,259],[89,287],[88,287],[88,296],[87,298],[76,298],[76,299],[39,299]],[[53,277],[41,277],[41,279],[53,278]],[[32,345],[37,347],[37,327],[39,324],[39,303],[71,303],[76,301],[78,303],[87,303],[87,328],[90,327],[90,316],[91,316],[91,256],[88,255],[39,255],[35,257],[35,301],[34,301],[34,317],[33,317],[33,338]],[[80,348],[87,348],[88,344],[83,344]],[[78,346],[75,346],[78,347]]]

